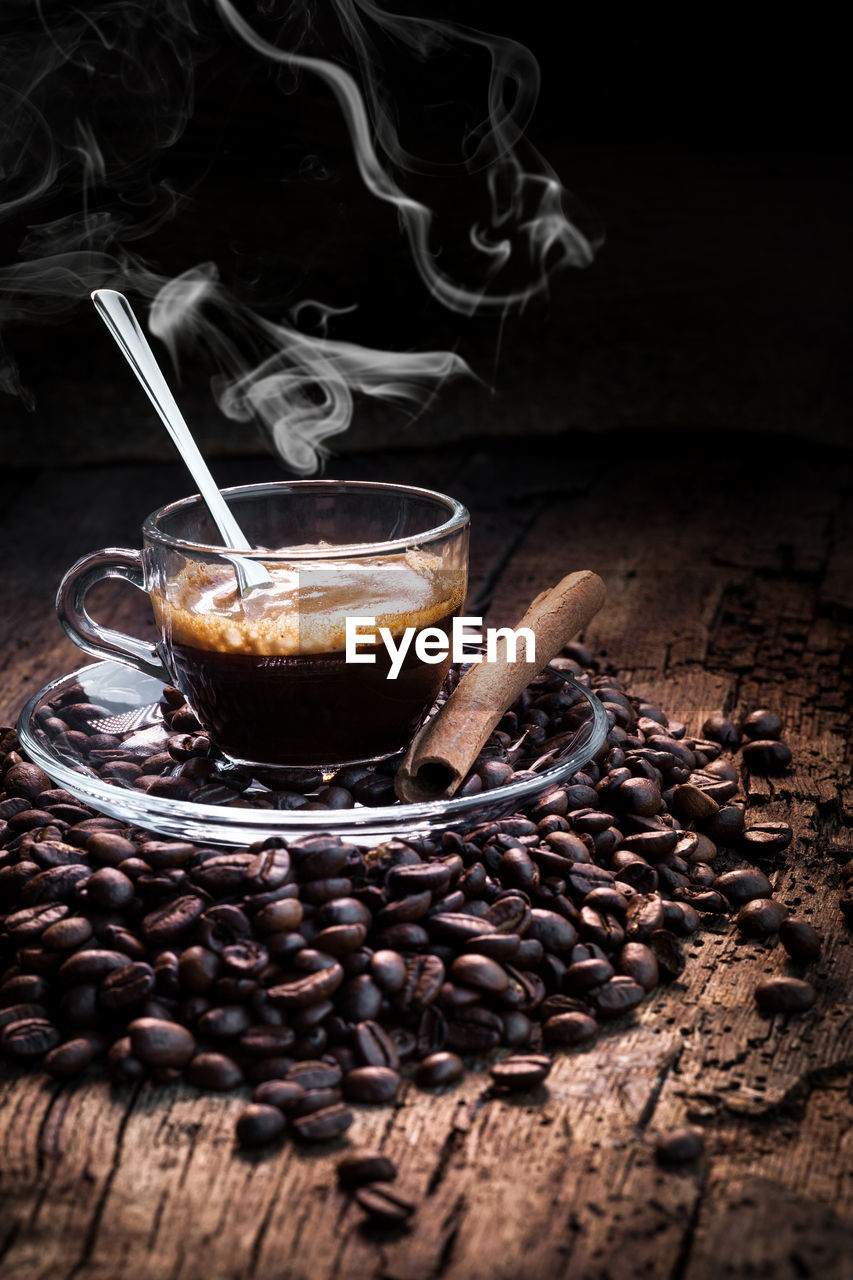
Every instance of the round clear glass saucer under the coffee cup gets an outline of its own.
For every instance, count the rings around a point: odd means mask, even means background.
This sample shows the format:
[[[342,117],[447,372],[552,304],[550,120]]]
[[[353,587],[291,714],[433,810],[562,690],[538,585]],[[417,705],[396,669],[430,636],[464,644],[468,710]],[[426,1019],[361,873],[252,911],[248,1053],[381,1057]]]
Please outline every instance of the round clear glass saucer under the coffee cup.
[[[44,726],[53,714],[53,707],[47,704],[70,698],[90,703],[102,713],[95,717],[92,712],[88,724],[120,739],[122,751],[165,750],[169,731],[159,707],[163,685],[152,676],[114,662],[91,663],[46,685],[22,710],[18,735],[29,759],[58,786],[111,818],[164,836],[197,844],[250,845],[266,836],[332,832],[369,846],[392,837],[428,836],[517,813],[581,769],[607,737],[607,713],[594,694],[567,671],[548,667],[546,673],[548,677],[558,676],[578,694],[579,723],[571,732],[560,735],[562,741],[556,751],[547,753],[549,758],[543,758],[539,767],[534,765],[532,776],[476,795],[428,804],[356,805],[353,809],[313,809],[307,813],[301,809],[251,809],[149,795],[132,786],[122,786],[113,778],[102,778],[73,742],[53,737]]]

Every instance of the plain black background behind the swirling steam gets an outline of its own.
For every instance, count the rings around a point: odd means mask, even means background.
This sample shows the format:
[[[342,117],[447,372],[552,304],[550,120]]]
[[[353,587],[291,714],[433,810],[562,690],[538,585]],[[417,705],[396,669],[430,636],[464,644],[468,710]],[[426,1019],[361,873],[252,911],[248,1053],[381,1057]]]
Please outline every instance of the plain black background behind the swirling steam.
[[[529,136],[580,201],[581,225],[606,233],[590,268],[555,275],[547,300],[501,321],[459,316],[428,297],[394,211],[357,178],[328,90],[265,65],[223,36],[209,6],[191,8],[195,114],[147,172],[187,198],[133,251],[164,274],[216,261],[234,293],[270,319],[305,297],[357,303],[333,321],[332,337],[457,349],[483,379],[447,384],[416,421],[359,402],[336,452],[564,433],[583,445],[585,433],[612,429],[849,443],[849,104],[843,36],[820,9],[758,20],[721,8],[430,5],[432,15],[533,50],[542,95]],[[266,35],[304,35],[301,6],[272,8],[257,19]],[[145,31],[137,38],[145,50]],[[304,47],[347,58],[328,14]],[[174,83],[179,59],[163,65]],[[459,125],[482,114],[485,67],[444,58],[419,78],[402,56],[387,64],[403,142],[453,156]],[[137,133],[145,152],[156,95],[123,105],[86,77],[77,92],[109,138],[132,151]],[[400,180],[435,209],[446,261],[464,271],[460,228],[480,207],[478,180]],[[3,260],[14,261],[27,218],[78,204],[64,187],[6,224]],[[132,301],[145,310],[145,300]],[[51,324],[6,326],[6,343],[35,398],[32,411],[3,398],[6,462],[170,456],[85,291]],[[211,371],[201,356],[182,367],[181,398],[206,451],[264,449],[257,429],[219,413]]]

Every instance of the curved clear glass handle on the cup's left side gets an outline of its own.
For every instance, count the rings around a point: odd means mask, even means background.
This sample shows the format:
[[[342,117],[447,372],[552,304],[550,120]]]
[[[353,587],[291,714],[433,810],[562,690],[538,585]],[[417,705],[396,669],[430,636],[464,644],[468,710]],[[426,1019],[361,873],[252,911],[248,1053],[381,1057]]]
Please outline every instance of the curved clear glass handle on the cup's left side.
[[[128,547],[108,547],[83,556],[68,570],[56,593],[56,614],[65,635],[93,658],[122,662],[126,667],[136,667],[146,676],[155,676],[169,684],[169,672],[155,645],[123,631],[102,627],[88,613],[86,596],[96,582],[109,577],[123,577],[147,595],[141,552]]]

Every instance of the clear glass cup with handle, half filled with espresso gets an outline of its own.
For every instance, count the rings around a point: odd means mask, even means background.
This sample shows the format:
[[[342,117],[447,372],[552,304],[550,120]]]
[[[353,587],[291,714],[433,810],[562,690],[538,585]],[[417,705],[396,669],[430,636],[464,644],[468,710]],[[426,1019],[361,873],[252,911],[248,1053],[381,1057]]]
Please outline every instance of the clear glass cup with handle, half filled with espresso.
[[[416,652],[415,641],[429,628],[450,648],[467,585],[465,507],[428,489],[366,481],[223,493],[256,550],[219,545],[200,497],[161,507],[142,526],[141,552],[93,552],[68,571],[56,596],[68,636],[96,658],[174,685],[238,763],[339,767],[402,749],[450,667],[441,643]],[[269,588],[240,595],[234,563],[243,557],[266,567]],[[147,593],[156,644],[87,612],[91,588],[113,577]],[[394,660],[406,631],[405,657]]]

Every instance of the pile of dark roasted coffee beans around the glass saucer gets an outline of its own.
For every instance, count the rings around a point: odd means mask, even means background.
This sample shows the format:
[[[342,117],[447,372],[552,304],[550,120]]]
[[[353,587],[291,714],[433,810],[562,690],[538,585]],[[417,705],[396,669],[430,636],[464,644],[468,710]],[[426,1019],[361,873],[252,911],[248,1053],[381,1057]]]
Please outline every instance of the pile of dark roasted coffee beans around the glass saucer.
[[[564,662],[607,709],[596,760],[526,813],[368,851],[333,835],[163,840],[54,787],[0,731],[0,1052],[59,1079],[102,1062],[118,1083],[245,1085],[241,1144],[328,1142],[352,1103],[393,1102],[410,1069],[435,1088],[508,1050],[494,1089],[540,1084],[543,1050],[589,1046],[678,979],[704,918],[736,913],[745,936],[815,959],[820,940],[752,864],[790,828],[747,827],[727,755],[745,739],[747,768],[783,767],[777,718],[712,717],[692,739],[583,673],[585,657]],[[574,694],[546,673],[500,732],[544,741]],[[719,874],[721,846],[740,865]],[[813,988],[775,978],[756,998],[797,1011]],[[405,1203],[375,1181],[362,1208],[400,1222]]]

